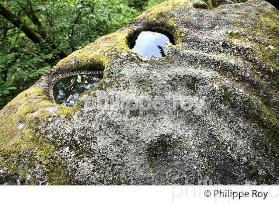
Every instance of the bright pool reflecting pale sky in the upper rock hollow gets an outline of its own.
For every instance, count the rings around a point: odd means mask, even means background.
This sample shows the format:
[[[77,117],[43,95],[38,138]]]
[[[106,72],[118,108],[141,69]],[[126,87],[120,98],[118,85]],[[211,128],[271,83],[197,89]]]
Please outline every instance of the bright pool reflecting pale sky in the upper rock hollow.
[[[138,52],[142,57],[165,57],[173,40],[168,36],[151,31],[142,31],[136,40],[131,43],[130,48]]]

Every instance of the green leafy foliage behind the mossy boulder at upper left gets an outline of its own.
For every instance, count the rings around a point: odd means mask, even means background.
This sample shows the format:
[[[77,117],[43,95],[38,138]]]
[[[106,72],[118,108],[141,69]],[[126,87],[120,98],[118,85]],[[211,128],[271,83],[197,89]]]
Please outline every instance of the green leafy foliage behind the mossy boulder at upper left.
[[[139,10],[123,0],[6,0],[0,4],[0,108],[29,88],[61,58],[132,21]],[[37,21],[36,21],[37,19]],[[21,27],[33,30],[34,43]]]

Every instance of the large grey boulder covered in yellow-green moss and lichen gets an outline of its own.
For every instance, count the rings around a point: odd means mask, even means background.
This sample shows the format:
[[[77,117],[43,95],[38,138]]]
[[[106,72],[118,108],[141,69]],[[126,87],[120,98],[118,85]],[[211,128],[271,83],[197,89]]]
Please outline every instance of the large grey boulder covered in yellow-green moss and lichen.
[[[129,48],[140,31],[158,29],[176,42],[166,57]],[[58,79],[103,72],[75,106],[53,102]],[[88,109],[104,93],[165,101],[142,112]],[[174,108],[181,97],[192,105]],[[61,60],[0,110],[0,184],[199,179],[279,184],[279,11],[265,1],[165,1]]]

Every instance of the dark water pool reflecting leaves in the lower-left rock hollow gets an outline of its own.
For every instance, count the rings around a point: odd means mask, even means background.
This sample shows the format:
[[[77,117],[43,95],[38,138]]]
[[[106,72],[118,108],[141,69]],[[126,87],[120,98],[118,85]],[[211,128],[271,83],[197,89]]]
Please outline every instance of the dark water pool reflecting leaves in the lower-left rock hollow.
[[[73,75],[55,83],[53,97],[56,103],[73,106],[85,91],[94,88],[102,79],[100,75]]]

